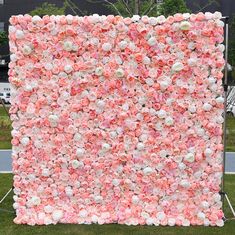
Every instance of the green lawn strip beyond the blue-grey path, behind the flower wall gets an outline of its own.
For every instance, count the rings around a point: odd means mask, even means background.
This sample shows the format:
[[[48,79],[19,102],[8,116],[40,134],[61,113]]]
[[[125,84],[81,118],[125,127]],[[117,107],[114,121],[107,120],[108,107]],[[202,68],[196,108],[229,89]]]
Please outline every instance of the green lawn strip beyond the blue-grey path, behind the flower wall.
[[[4,111],[0,107],[0,149],[11,148],[11,122]],[[228,152],[235,152],[235,117],[227,117],[227,148]],[[235,234],[235,233],[234,233]]]

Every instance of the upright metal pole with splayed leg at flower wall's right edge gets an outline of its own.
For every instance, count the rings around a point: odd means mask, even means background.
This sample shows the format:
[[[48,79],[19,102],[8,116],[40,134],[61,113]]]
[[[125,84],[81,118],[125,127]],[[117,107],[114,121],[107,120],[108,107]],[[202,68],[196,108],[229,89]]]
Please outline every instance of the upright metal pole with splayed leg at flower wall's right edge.
[[[221,191],[220,195],[222,197],[223,203],[223,212],[224,212],[224,202],[227,201],[229,208],[233,214],[232,218],[226,218],[224,215],[224,221],[229,219],[235,219],[235,212],[233,206],[228,198],[227,193],[224,190],[224,176],[225,176],[225,158],[226,158],[226,118],[227,118],[227,92],[228,92],[228,16],[224,16],[224,23],[225,23],[225,69],[224,69],[224,124],[223,124],[223,176],[222,176],[222,183],[221,183]]]

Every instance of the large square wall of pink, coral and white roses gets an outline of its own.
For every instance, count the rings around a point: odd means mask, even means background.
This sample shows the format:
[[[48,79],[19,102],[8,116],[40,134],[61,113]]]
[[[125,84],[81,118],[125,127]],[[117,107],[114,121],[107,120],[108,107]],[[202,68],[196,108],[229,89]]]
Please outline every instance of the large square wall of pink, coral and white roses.
[[[222,226],[220,18],[12,16],[14,222]]]

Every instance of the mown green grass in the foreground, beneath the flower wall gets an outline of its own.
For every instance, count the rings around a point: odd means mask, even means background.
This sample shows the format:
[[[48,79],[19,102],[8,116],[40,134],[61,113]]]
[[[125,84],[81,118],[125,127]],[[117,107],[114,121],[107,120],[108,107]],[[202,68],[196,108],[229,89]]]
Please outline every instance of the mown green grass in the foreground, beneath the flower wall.
[[[0,174],[0,198],[12,186],[12,174]],[[225,190],[231,203],[235,206],[235,175],[225,176]],[[12,209],[13,193],[2,203],[1,208]],[[226,216],[231,216],[225,204]],[[233,235],[235,220],[225,222],[224,227],[155,227],[155,226],[126,226],[117,224],[107,225],[75,225],[57,224],[48,226],[16,225],[13,223],[13,213],[0,211],[0,234],[4,235]]]

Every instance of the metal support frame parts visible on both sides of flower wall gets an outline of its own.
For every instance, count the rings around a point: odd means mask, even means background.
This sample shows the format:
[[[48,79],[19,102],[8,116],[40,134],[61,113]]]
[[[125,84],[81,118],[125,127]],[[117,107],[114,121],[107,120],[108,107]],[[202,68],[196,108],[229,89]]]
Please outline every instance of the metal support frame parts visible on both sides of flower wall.
[[[225,176],[225,158],[226,158],[226,117],[227,117],[227,92],[228,92],[228,16],[223,16],[221,19],[225,21],[225,69],[224,69],[224,123],[223,123],[223,175],[222,175],[222,182],[221,182],[221,191],[220,195],[222,196],[222,209],[224,211],[224,204],[225,200],[227,201],[229,208],[233,214],[232,218],[226,218],[224,216],[224,221],[235,219],[235,211],[233,209],[233,206],[228,198],[227,193],[224,191],[225,189],[225,182],[224,182],[224,176]],[[6,106],[3,102],[3,100],[0,98],[0,102],[2,103],[5,112],[7,113],[8,117],[10,118],[10,115],[6,109]],[[3,196],[3,198],[0,200],[0,204],[4,201],[4,199],[10,194],[11,191],[13,191],[14,187],[10,188],[8,192]],[[10,213],[15,213],[14,211],[9,211],[5,209],[1,209],[0,211],[5,211],[5,212],[10,212]]]

